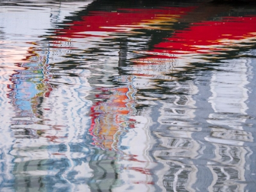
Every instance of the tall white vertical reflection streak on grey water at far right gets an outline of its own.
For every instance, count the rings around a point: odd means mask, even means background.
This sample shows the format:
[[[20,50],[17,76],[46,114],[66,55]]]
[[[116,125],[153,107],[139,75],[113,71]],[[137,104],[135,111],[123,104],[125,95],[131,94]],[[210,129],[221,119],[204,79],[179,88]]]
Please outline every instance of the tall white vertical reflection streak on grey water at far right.
[[[213,143],[214,160],[222,165],[208,166],[215,178],[208,189],[244,191],[246,184],[236,181],[246,181],[246,161],[251,150],[245,142],[253,141],[251,133],[244,130],[250,67],[248,60],[238,59],[224,63],[219,69],[222,71],[213,73],[210,84],[212,97],[208,102],[215,113],[210,114],[207,120],[213,126],[211,136],[205,137],[205,140]],[[226,185],[219,186],[219,180],[223,180]]]

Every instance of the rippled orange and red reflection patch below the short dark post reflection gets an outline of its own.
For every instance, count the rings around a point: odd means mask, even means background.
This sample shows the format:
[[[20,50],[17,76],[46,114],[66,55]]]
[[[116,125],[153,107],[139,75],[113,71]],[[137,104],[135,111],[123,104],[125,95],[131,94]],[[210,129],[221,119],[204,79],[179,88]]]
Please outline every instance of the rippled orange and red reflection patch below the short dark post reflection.
[[[132,82],[132,77],[123,80]],[[93,144],[104,150],[118,149],[120,135],[126,129],[134,128],[135,121],[130,116],[135,114],[134,93],[132,85],[116,88],[102,88],[106,94],[96,95],[106,99],[105,102],[96,102],[91,107],[92,124],[90,134],[93,135]]]

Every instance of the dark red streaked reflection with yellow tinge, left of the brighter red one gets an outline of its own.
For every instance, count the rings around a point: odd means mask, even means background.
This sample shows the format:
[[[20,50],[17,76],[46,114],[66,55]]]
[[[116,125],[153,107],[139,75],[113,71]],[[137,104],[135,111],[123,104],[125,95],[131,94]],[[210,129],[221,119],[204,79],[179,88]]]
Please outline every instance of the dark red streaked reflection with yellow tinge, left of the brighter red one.
[[[194,7],[165,7],[163,9],[118,9],[116,12],[90,12],[82,20],[68,23],[65,29],[58,29],[58,37],[81,38],[104,36],[96,32],[131,32],[147,29],[154,24],[174,21]],[[154,27],[153,27],[154,28]]]

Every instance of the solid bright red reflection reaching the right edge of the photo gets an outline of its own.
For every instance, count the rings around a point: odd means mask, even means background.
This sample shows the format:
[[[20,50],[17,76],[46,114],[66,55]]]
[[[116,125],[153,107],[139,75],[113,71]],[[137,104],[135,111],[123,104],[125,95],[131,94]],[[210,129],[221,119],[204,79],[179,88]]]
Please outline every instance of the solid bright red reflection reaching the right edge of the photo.
[[[152,54],[138,63],[161,63],[177,59],[184,54],[219,54],[218,51],[231,50],[240,43],[255,40],[256,16],[225,17],[220,21],[193,23],[165,41],[156,44],[155,49],[139,53]]]

